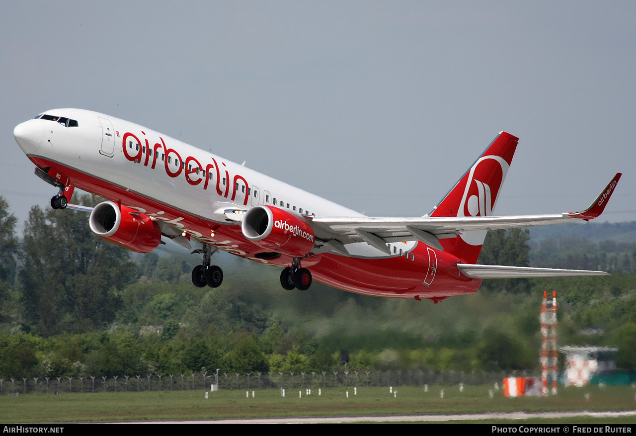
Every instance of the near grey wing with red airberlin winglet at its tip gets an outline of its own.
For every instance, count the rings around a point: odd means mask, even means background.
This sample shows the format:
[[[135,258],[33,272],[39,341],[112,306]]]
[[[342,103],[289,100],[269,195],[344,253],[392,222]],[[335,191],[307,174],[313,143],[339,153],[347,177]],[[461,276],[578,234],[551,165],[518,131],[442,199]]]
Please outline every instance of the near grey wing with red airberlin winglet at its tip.
[[[386,251],[385,243],[418,239],[438,250],[443,250],[439,239],[455,237],[474,230],[514,229],[535,225],[589,221],[597,218],[614,192],[621,178],[617,173],[590,207],[582,212],[566,212],[552,215],[520,216],[422,216],[418,218],[321,218],[314,217],[312,227],[331,235],[336,242],[346,244],[366,242],[378,250]],[[323,238],[324,239],[324,238]],[[328,239],[328,238],[327,238]]]

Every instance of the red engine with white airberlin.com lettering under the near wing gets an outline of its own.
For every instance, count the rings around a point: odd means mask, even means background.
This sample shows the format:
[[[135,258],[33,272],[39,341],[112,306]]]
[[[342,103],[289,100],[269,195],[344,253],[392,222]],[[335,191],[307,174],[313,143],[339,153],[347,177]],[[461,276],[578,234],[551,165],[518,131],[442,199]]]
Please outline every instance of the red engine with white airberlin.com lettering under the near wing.
[[[303,257],[314,248],[314,230],[300,216],[272,206],[254,206],[243,218],[243,236],[265,250]]]

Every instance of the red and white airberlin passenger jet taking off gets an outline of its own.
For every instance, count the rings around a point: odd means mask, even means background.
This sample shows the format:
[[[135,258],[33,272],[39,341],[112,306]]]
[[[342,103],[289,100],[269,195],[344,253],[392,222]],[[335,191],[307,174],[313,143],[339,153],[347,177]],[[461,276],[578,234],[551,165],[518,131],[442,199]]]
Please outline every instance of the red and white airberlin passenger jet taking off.
[[[315,279],[376,297],[439,302],[474,293],[485,278],[605,275],[602,271],[478,265],[486,232],[597,218],[617,173],[582,212],[494,216],[518,138],[500,132],[432,211],[370,217],[228,162],[141,125],[83,109],[53,109],[15,127],[39,178],[58,188],[53,209],[90,212],[99,237],[148,253],[162,238],[202,255],[193,285],[216,288],[223,250],[282,267],[280,285]],[[74,188],[104,197],[70,203]]]

